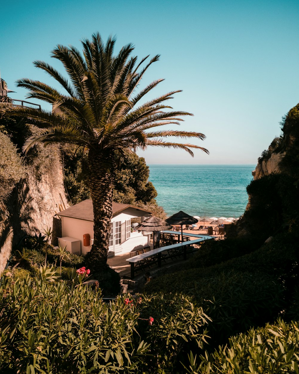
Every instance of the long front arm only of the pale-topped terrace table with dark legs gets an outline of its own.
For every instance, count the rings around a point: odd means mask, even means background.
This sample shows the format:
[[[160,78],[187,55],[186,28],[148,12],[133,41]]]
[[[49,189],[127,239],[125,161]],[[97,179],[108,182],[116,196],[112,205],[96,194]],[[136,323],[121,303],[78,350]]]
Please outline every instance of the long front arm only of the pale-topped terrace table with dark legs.
[[[209,237],[209,239],[214,239]],[[181,249],[181,253],[184,256],[184,260],[187,260],[187,248],[192,247],[193,244],[198,244],[200,242],[203,242],[204,240],[207,240],[206,237],[201,237],[199,239],[189,240],[188,242],[183,243],[177,243],[172,245],[167,245],[165,247],[155,248],[151,251],[148,251],[146,253],[139,254],[137,256],[133,256],[131,258],[126,258],[126,261],[128,261],[131,265],[131,279],[135,276],[135,268],[134,266],[137,266],[139,269],[144,269],[145,267],[149,267],[151,263],[149,263],[148,259],[152,257],[157,257],[157,263],[158,267],[161,267],[161,258],[163,252],[167,252],[167,254],[170,254],[171,251],[174,249],[176,252]],[[154,261],[152,261],[152,264],[154,264]]]

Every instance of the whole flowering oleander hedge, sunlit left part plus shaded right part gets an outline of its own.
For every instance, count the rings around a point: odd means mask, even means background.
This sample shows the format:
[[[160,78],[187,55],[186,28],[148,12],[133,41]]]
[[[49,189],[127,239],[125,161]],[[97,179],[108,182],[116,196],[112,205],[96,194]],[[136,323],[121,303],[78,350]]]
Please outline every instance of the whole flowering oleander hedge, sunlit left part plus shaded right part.
[[[46,267],[34,279],[3,277],[0,311],[1,373],[171,373],[203,349],[209,320],[191,297],[105,303]]]

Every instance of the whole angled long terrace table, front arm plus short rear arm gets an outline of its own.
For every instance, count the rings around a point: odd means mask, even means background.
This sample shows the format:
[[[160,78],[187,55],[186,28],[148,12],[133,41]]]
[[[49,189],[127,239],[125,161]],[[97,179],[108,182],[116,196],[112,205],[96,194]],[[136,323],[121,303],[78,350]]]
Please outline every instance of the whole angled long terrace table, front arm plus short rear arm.
[[[163,231],[164,233],[175,233],[177,234],[178,232],[173,232],[173,231]],[[181,234],[181,233],[179,233]],[[184,233],[183,233],[184,235]],[[195,235],[189,235],[189,236],[195,236]],[[128,261],[131,265],[131,279],[134,278],[135,274],[135,269],[134,269],[134,265],[135,264],[138,264],[141,265],[142,267],[142,261],[145,261],[144,262],[144,266],[147,266],[147,262],[146,260],[148,258],[151,258],[151,257],[155,257],[157,256],[157,261],[158,261],[158,267],[161,267],[161,254],[163,252],[168,252],[170,250],[173,250],[173,249],[182,249],[183,250],[183,255],[184,255],[184,260],[187,260],[187,246],[191,246],[193,244],[198,244],[200,242],[203,242],[204,240],[209,240],[209,239],[214,239],[212,236],[206,236],[206,235],[200,235],[197,239],[194,239],[194,240],[189,240],[188,242],[183,242],[183,243],[177,243],[177,244],[172,244],[172,245],[167,245],[167,246],[164,246],[164,247],[160,247],[160,248],[155,248],[155,249],[152,249],[151,251],[148,251],[146,253],[142,253],[140,255],[137,255],[137,256],[134,256],[134,257],[131,257],[131,258],[126,258],[126,261]]]

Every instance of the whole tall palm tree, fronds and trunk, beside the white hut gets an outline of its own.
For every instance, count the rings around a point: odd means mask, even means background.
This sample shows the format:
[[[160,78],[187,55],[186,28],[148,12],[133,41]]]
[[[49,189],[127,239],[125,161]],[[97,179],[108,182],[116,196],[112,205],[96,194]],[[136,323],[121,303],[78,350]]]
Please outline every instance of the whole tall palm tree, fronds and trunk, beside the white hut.
[[[64,65],[68,79],[43,61],[34,65],[53,77],[64,93],[42,82],[31,79],[18,80],[18,86],[29,89],[28,98],[36,98],[52,104],[52,112],[19,107],[14,113],[25,116],[27,122],[39,129],[27,139],[24,151],[45,142],[67,142],[87,150],[87,184],[93,202],[94,241],[90,264],[107,264],[107,252],[112,217],[113,175],[120,155],[146,149],[149,145],[181,148],[193,156],[192,148],[209,153],[193,144],[167,142],[166,137],[199,138],[205,136],[188,131],[151,131],[167,124],[178,124],[185,111],[174,111],[165,102],[180,91],[168,92],[158,98],[139,104],[144,96],[163,79],[155,80],[137,91],[149,66],[158,61],[159,55],[148,61],[149,56],[137,63],[130,56],[132,44],[121,48],[114,55],[115,38],[104,43],[96,33],[92,40],[81,41],[83,55],[73,46],[58,45],[52,57]],[[148,61],[148,62],[147,62]],[[147,62],[147,63],[146,63]],[[143,66],[143,67],[142,67]]]

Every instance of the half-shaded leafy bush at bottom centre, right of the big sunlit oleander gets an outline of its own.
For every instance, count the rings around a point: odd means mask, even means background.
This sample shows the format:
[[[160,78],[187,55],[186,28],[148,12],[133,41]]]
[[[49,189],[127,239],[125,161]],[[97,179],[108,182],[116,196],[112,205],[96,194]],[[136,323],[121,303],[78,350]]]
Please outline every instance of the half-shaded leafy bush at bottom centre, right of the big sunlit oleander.
[[[209,317],[194,299],[183,294],[159,294],[144,297],[142,313],[145,319],[151,316],[154,323],[138,323],[141,338],[149,342],[151,360],[145,362],[147,373],[181,372],[180,361],[184,361],[190,349],[203,349],[209,337]],[[181,369],[181,370],[180,370]]]

